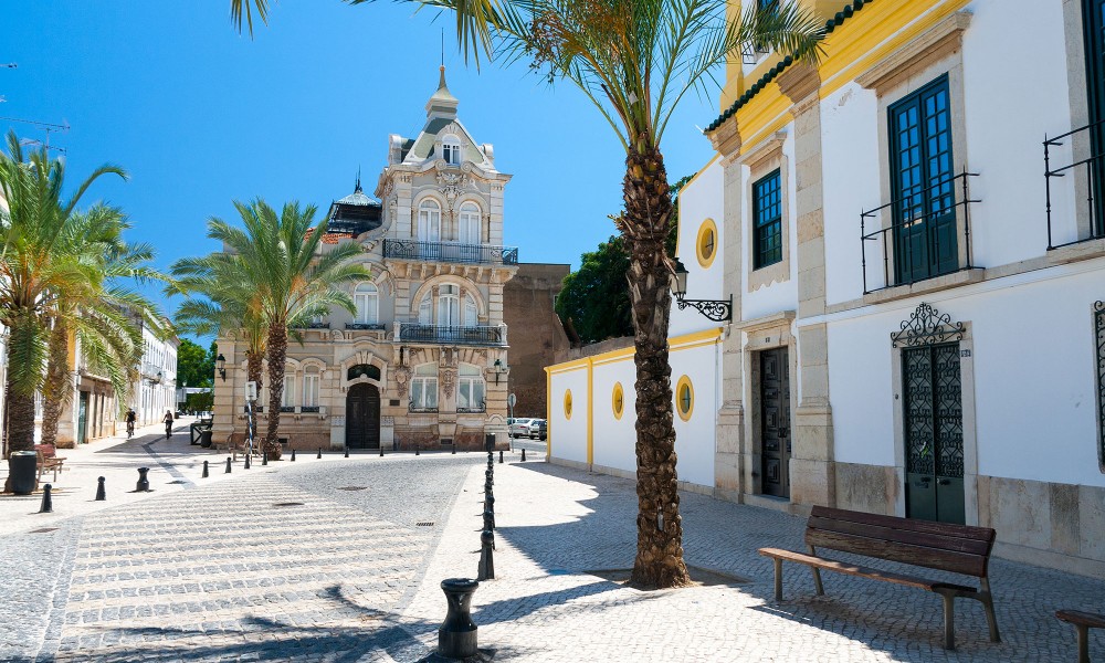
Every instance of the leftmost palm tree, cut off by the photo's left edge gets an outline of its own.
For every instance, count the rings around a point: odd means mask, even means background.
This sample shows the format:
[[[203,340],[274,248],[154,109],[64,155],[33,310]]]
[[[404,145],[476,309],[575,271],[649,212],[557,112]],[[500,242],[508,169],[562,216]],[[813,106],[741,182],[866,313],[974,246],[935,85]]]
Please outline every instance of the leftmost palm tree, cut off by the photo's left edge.
[[[45,320],[63,293],[98,277],[99,265],[67,251],[77,202],[101,176],[126,178],[117,166],[101,166],[67,199],[62,198],[65,165],[45,148],[24,155],[14,133],[0,154],[0,323],[9,330],[4,392],[7,448],[34,444],[34,393],[42,386],[48,356]]]

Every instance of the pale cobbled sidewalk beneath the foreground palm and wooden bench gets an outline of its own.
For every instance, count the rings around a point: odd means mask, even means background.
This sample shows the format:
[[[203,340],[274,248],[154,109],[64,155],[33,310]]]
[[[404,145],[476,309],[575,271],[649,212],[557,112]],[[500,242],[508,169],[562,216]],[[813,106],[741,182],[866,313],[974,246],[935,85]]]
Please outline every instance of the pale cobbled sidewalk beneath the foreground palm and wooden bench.
[[[470,472],[398,620],[422,655],[436,646],[435,628],[424,624],[445,612],[440,581],[476,575],[483,481],[483,467]],[[993,559],[1002,642],[989,642],[980,604],[957,601],[958,650],[947,652],[940,599],[928,592],[825,573],[827,596],[818,598],[809,571],[796,567],[787,569],[786,600],[776,602],[770,560],[756,550],[802,549],[804,518],[682,493],[687,564],[730,580],[642,592],[588,572],[632,567],[632,482],[496,463],[494,490],[496,579],[481,583],[473,619],[481,650],[496,661],[1064,661],[1074,659],[1074,633],[1054,611],[1105,609],[1105,580]],[[1091,652],[1103,651],[1096,633]],[[414,660],[394,653],[366,660]]]

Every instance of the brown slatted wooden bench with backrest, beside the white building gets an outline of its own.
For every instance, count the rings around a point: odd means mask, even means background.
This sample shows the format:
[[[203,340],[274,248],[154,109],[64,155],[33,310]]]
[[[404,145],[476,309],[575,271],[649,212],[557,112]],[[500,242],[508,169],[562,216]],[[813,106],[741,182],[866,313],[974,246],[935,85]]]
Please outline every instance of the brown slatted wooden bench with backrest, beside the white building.
[[[821,569],[938,593],[944,599],[944,646],[954,650],[956,598],[980,601],[986,609],[986,620],[990,625],[990,640],[1001,641],[993,614],[990,581],[987,578],[993,538],[994,532],[988,527],[933,523],[814,506],[806,526],[809,555],[778,548],[760,548],[759,552],[771,557],[775,561],[777,601],[782,600],[783,561],[794,561],[810,567],[813,570],[813,586],[819,596],[824,593]],[[818,548],[974,576],[979,579],[980,588],[835,561],[821,557]]]

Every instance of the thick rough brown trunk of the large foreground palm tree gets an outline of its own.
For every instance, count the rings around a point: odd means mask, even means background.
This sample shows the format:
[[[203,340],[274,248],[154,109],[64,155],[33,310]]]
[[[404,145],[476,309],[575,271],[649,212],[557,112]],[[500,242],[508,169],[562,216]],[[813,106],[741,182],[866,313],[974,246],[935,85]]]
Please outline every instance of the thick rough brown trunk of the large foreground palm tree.
[[[683,562],[667,361],[672,267],[664,239],[672,197],[664,158],[651,141],[641,140],[625,166],[620,225],[630,252],[628,278],[636,333],[636,558],[630,581],[641,588],[681,587],[690,577]]]

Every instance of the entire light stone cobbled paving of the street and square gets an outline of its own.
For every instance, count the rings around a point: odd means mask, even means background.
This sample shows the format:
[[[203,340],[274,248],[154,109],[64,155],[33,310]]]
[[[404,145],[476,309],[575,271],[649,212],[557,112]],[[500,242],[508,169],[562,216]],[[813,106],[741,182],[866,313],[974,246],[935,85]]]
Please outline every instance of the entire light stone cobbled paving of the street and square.
[[[112,444],[63,452],[53,514],[0,498],[0,661],[434,659],[439,582],[476,573],[485,454],[302,453],[224,475],[186,434]],[[1002,642],[960,601],[946,652],[927,592],[825,575],[815,598],[796,568],[776,602],[756,549],[801,549],[804,520],[688,493],[686,559],[718,583],[638,591],[593,575],[632,565],[633,483],[538,457],[496,456],[496,579],[473,600],[495,661],[1073,661],[1054,610],[1105,608],[1102,579],[993,559]],[[138,465],[152,493],[126,493]]]

